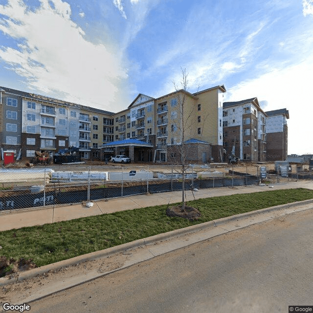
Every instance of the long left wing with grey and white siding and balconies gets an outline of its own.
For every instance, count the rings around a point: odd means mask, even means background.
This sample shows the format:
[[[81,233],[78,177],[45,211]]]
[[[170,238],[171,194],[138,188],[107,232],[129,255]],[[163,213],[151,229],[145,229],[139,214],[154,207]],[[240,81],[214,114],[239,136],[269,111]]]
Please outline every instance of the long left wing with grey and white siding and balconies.
[[[0,87],[0,106],[1,149],[23,157],[42,150],[54,154],[74,146],[85,159],[100,158],[101,123],[110,124],[113,114],[4,87]]]

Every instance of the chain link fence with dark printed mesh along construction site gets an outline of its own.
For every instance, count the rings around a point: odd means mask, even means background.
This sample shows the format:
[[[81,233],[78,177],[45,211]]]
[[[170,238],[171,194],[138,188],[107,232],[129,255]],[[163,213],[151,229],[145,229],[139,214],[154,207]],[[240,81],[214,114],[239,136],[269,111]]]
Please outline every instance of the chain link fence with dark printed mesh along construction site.
[[[305,167],[189,165],[184,189],[313,179]],[[180,166],[53,166],[0,170],[0,210],[182,190]]]

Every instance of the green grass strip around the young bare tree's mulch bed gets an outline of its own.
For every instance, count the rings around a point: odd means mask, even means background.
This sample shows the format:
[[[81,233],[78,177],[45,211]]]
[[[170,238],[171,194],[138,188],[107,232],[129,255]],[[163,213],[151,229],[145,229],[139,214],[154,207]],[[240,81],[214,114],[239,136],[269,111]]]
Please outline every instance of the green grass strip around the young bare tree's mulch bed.
[[[33,259],[40,267],[170,230],[307,199],[313,199],[313,190],[272,190],[188,201],[202,215],[193,222],[170,218],[165,214],[166,205],[159,205],[12,229],[0,232],[0,255]]]

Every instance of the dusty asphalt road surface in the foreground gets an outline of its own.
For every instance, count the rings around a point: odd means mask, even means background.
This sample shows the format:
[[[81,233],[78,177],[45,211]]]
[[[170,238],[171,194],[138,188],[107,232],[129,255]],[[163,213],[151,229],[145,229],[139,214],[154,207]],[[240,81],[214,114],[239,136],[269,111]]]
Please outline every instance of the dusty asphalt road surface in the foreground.
[[[29,303],[29,312],[288,312],[313,305],[313,211],[252,225]]]

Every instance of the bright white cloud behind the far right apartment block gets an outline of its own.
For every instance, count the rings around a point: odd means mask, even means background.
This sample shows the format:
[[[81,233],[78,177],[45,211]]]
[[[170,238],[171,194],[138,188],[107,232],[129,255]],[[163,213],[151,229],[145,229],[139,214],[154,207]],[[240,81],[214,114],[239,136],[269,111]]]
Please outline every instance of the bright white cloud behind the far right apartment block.
[[[276,68],[227,89],[225,101],[257,97],[259,102],[266,105],[262,107],[264,111],[289,110],[288,153],[304,154],[313,149],[307,140],[307,134],[312,134],[312,72],[313,58],[292,67]]]

